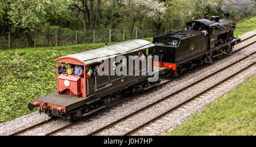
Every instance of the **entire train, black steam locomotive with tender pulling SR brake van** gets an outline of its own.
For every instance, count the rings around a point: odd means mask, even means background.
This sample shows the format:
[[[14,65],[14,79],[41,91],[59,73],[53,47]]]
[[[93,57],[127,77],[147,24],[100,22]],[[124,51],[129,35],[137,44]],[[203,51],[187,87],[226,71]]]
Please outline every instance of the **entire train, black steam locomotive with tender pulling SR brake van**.
[[[207,31],[207,35],[201,32],[203,29]],[[122,100],[119,95],[125,91],[136,94],[150,89],[159,84],[160,77],[164,74],[179,75],[206,62],[212,62],[214,58],[223,56],[224,52],[232,52],[234,45],[241,41],[233,36],[235,29],[236,24],[228,18],[228,14],[224,14],[224,19],[220,20],[218,16],[212,16],[212,20],[188,22],[187,30],[155,36],[152,43],[140,39],[130,40],[57,58],[57,66],[59,62],[76,64],[85,71],[86,66],[98,65],[104,66],[101,67],[102,73],[109,74],[81,78],[75,75],[59,75],[57,72],[57,93],[35,99],[28,104],[28,108],[33,110],[40,107],[40,113],[44,112],[50,117],[64,117],[68,121],[90,115]],[[146,68],[140,62],[139,65],[132,63],[133,71],[138,68],[139,73],[144,74],[110,74],[112,65],[118,65],[112,58],[136,56],[143,49],[148,49],[148,54],[159,57],[151,64],[147,63]],[[119,64],[128,62],[120,60]],[[150,73],[150,69],[154,70]],[[150,82],[148,79],[154,78],[154,73],[159,74],[158,80]]]

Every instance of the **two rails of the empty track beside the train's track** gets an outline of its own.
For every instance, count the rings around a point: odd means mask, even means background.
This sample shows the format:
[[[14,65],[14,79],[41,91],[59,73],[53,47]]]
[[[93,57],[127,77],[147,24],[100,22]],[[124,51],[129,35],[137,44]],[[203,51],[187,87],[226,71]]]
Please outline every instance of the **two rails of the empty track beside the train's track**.
[[[249,56],[251,56],[251,55],[254,54],[254,53],[256,53],[256,52],[250,53]],[[93,132],[89,133],[88,135],[97,135],[98,133],[104,131],[104,129],[113,127],[114,125],[116,125],[116,124],[118,124],[118,123],[121,123],[121,122],[124,121],[124,120],[129,119],[131,116],[134,116],[134,115],[136,115],[136,114],[139,114],[140,112],[142,112],[142,111],[144,111],[144,110],[147,110],[148,108],[150,108],[150,107],[152,107],[152,106],[155,106],[156,104],[159,104],[159,103],[163,102],[163,100],[166,100],[166,99],[170,98],[171,96],[174,96],[174,95],[176,95],[176,94],[181,93],[181,91],[184,91],[184,90],[188,89],[189,87],[192,87],[192,86],[196,85],[197,83],[199,83],[199,82],[201,82],[201,81],[204,81],[205,79],[207,79],[207,78],[209,78],[209,77],[212,77],[212,75],[214,75],[214,74],[217,74],[217,73],[219,73],[219,72],[222,72],[222,70],[228,68],[229,66],[232,66],[232,65],[234,65],[234,64],[237,64],[238,62],[241,62],[242,60],[245,60],[245,58],[248,58],[248,56],[243,57],[243,58],[241,58],[240,60],[238,60],[238,61],[236,61],[236,62],[233,62],[233,64],[230,64],[230,65],[228,65],[228,66],[225,66],[224,68],[221,68],[221,69],[217,70],[216,72],[214,72],[214,73],[212,73],[212,74],[209,74],[207,77],[204,77],[204,78],[200,79],[199,81],[196,81],[196,82],[194,82],[194,83],[191,83],[190,85],[185,86],[185,87],[183,87],[183,88],[181,88],[181,89],[175,91],[174,93],[171,93],[171,94],[169,94],[169,95],[167,95],[167,96],[164,96],[163,98],[161,98],[161,99],[159,99],[159,100],[156,100],[154,103],[148,104],[147,106],[145,106],[145,107],[143,107],[143,108],[141,108],[141,109],[139,109],[139,110],[137,110],[137,111],[135,111],[135,112],[132,112],[131,114],[128,114],[128,115],[126,115],[126,116],[124,116],[124,117],[122,117],[122,118],[120,118],[120,119],[118,119],[118,120],[115,120],[115,121],[113,121],[112,123],[110,123],[110,124],[108,124],[108,125],[105,125],[104,127],[101,127],[101,128],[99,128],[99,129],[97,129],[96,131],[93,131]],[[253,64],[251,64],[251,65],[249,65],[249,66],[252,66],[252,65],[254,65],[254,64],[255,64],[255,63],[253,63]],[[249,66],[247,66],[246,68],[248,68]],[[240,70],[239,72],[237,72],[236,74],[242,72],[242,70],[245,70],[246,68],[241,69],[241,70]],[[233,76],[236,75],[236,74],[232,74],[232,75],[229,76],[228,78],[225,78],[223,81],[218,82],[216,85],[219,85],[220,83],[226,81],[227,79],[229,79],[230,77],[233,77]],[[211,86],[209,89],[202,91],[200,94],[197,94],[197,95],[193,96],[191,99],[188,99],[187,101],[185,101],[185,102],[183,102],[183,103],[180,103],[180,104],[177,105],[176,107],[171,108],[170,110],[164,112],[163,114],[161,114],[161,115],[155,117],[154,119],[151,119],[150,121],[147,121],[147,123],[144,123],[144,124],[140,125],[139,127],[134,128],[134,129],[131,130],[130,132],[127,132],[127,133],[125,133],[125,134],[123,134],[123,135],[130,135],[131,133],[135,132],[135,131],[138,130],[139,128],[144,127],[145,125],[151,123],[152,121],[158,119],[159,117],[161,117],[161,116],[163,116],[163,115],[166,115],[166,114],[168,114],[169,112],[175,110],[176,108],[182,106],[183,104],[188,103],[188,102],[191,101],[192,99],[197,98],[197,96],[199,96],[199,95],[205,93],[206,91],[212,89],[212,88],[215,87],[216,85]]]

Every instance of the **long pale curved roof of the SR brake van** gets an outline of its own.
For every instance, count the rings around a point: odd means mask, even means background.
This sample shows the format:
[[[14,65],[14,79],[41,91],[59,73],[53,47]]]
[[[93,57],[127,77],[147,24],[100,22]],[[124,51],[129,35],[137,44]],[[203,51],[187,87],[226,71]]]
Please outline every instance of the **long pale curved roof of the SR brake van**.
[[[79,60],[82,64],[89,65],[110,57],[115,57],[130,52],[136,52],[154,46],[155,45],[150,43],[149,41],[142,39],[129,40],[122,43],[109,45],[108,47],[102,47],[90,51],[63,56],[56,59],[55,61],[65,62],[63,59],[67,58],[67,61],[68,59],[75,59]]]

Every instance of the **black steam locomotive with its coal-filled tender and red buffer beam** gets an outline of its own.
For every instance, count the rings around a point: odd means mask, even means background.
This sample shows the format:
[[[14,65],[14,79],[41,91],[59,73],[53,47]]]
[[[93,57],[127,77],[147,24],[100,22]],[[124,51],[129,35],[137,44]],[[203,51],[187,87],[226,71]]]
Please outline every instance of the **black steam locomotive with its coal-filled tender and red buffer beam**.
[[[207,31],[205,36],[201,30]],[[149,53],[159,56],[155,66],[165,67],[172,75],[179,75],[205,62],[212,62],[225,53],[232,52],[241,41],[233,36],[236,23],[224,14],[224,19],[212,16],[211,20],[199,19],[187,23],[187,30],[155,36],[156,46]],[[199,31],[200,30],[200,31]]]

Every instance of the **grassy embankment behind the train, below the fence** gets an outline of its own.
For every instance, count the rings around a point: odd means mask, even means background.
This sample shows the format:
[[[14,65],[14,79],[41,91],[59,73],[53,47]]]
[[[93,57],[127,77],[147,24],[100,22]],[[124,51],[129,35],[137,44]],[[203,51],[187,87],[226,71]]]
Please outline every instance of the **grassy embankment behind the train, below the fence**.
[[[251,19],[255,22],[255,16]],[[253,25],[250,22],[241,20],[237,26]],[[237,28],[235,34],[253,29],[255,27]],[[152,38],[145,40],[152,41]],[[56,91],[56,58],[100,48],[104,44],[0,50],[0,123],[31,113],[27,103]]]

